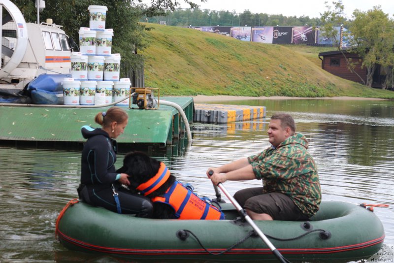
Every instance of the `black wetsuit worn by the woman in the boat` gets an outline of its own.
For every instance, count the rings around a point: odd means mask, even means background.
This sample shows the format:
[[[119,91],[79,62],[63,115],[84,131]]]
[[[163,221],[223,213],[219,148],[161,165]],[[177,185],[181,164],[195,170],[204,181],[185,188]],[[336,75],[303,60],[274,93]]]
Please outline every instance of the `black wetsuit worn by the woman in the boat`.
[[[83,137],[88,140],[82,150],[79,197],[91,205],[118,212],[112,190],[114,186],[118,193],[122,214],[151,217],[153,206],[149,198],[132,194],[116,180],[118,175],[114,165],[117,152],[116,141],[101,129],[83,126],[81,131]]]

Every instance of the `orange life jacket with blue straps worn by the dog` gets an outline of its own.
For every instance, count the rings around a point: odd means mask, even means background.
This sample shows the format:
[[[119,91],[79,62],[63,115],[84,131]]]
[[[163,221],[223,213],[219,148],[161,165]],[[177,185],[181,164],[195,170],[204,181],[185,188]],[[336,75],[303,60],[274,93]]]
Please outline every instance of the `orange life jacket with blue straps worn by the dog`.
[[[168,179],[169,170],[164,163],[160,164],[158,173],[147,182],[140,184],[137,189],[144,196],[149,195]],[[225,219],[225,215],[215,206],[198,197],[193,191],[187,189],[180,182],[175,181],[164,194],[164,197],[153,197],[152,202],[166,203],[175,210],[178,219]]]

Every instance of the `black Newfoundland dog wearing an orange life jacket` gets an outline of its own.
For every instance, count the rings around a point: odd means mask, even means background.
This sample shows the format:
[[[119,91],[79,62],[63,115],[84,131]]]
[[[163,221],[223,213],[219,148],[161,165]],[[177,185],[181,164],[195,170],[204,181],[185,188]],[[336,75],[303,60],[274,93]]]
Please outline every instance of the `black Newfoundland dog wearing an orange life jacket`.
[[[153,217],[160,219],[224,219],[216,206],[207,203],[171,175],[165,164],[142,152],[130,152],[117,170],[129,175],[129,189],[153,202]]]

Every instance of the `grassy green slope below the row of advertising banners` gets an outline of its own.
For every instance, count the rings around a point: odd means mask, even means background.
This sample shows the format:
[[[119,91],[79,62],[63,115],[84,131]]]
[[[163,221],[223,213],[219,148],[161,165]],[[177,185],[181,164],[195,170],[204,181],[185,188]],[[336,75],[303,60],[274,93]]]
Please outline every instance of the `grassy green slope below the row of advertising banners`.
[[[161,95],[368,97],[394,92],[367,88],[321,68],[319,52],[332,47],[244,42],[188,28],[148,24],[145,86]]]

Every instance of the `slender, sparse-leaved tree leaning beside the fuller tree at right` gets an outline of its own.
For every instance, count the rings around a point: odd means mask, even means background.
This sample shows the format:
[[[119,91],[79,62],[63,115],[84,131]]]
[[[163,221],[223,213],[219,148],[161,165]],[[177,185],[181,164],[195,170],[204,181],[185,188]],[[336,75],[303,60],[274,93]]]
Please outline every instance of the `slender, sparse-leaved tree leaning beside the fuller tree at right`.
[[[346,22],[346,18],[344,17],[344,5],[342,4],[342,0],[338,0],[337,2],[333,1],[333,9],[331,10],[331,6],[328,2],[325,2],[327,11],[325,11],[321,15],[321,23],[322,26],[320,27],[320,33],[323,37],[327,37],[332,40],[333,46],[335,46],[339,52],[341,52],[343,58],[346,61],[347,68],[354,74],[356,74],[362,83],[365,85],[364,79],[355,71],[355,67],[358,62],[353,62],[351,59],[348,59],[342,50],[341,47],[341,37],[346,37],[347,32],[343,32],[343,34],[339,34],[338,37],[338,27],[342,27],[343,24]]]

